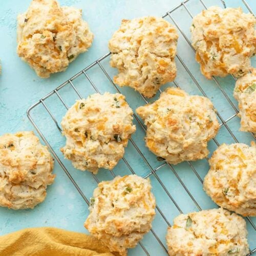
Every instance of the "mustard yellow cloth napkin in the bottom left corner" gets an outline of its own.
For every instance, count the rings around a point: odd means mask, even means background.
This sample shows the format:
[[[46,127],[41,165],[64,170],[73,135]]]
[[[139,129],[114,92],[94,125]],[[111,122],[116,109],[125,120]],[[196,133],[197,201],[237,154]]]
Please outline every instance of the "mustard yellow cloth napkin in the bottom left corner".
[[[113,256],[97,239],[53,227],[27,228],[0,237],[0,255]]]

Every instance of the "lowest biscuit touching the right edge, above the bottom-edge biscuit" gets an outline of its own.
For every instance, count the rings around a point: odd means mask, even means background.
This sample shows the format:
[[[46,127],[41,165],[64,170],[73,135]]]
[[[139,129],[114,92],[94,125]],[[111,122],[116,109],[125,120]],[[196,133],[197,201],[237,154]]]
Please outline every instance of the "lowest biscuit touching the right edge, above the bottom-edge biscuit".
[[[256,216],[255,144],[222,144],[209,164],[204,189],[212,200],[243,216]]]

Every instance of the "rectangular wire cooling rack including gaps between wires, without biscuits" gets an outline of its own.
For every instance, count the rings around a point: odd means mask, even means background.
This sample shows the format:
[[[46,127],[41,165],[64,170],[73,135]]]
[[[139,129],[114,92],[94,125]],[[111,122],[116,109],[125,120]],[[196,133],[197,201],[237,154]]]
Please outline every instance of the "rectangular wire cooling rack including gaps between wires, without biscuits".
[[[176,56],[178,75],[176,80],[167,86],[182,88],[184,84],[187,84],[186,91],[209,97],[214,102],[218,111],[217,116],[221,127],[217,137],[209,142],[208,147],[212,153],[223,142],[249,143],[255,137],[250,133],[238,132],[240,119],[237,117],[237,102],[232,97],[234,80],[236,78],[231,76],[222,79],[212,77],[212,80],[206,80],[200,74],[199,66],[194,60],[195,50],[188,39],[188,29],[191,23],[187,24],[187,19],[185,18],[182,18],[178,22],[179,17],[188,15],[188,18],[191,19],[202,9],[207,9],[205,2],[203,0],[186,0],[166,12],[162,17],[169,19],[176,26],[180,34],[178,54]],[[212,2],[214,1],[211,1],[213,5]],[[244,4],[242,6],[244,10],[247,8],[247,11],[249,10],[254,15],[247,2],[244,0],[242,2]],[[218,0],[217,2],[216,0],[214,4],[226,8],[224,1]],[[182,48],[182,51],[179,51],[179,47]],[[153,192],[158,203],[156,207],[157,215],[151,232],[146,234],[145,238],[139,243],[136,253],[131,252],[131,254],[165,255],[167,254],[165,244],[166,228],[171,225],[175,216],[183,212],[187,213],[193,210],[216,207],[202,190],[203,177],[208,171],[206,159],[197,162],[185,162],[175,166],[166,162],[158,162],[156,156],[148,152],[144,146],[143,137],[146,129],[136,114],[134,114],[134,122],[137,126],[137,132],[130,139],[129,145],[125,150],[125,157],[123,157],[122,161],[119,162],[113,171],[102,170],[97,175],[88,172],[78,172],[59,153],[58,145],[65,144],[65,138],[61,136],[59,125],[62,116],[74,103],[75,99],[86,98],[92,93],[101,93],[102,83],[108,85],[108,91],[126,95],[126,100],[133,109],[139,105],[148,103],[142,95],[139,95],[132,89],[119,88],[115,85],[111,77],[113,77],[112,73],[116,71],[108,65],[110,54],[105,54],[97,59],[87,68],[41,98],[28,109],[27,115],[42,140],[49,147],[49,150],[61,168],[88,205],[92,191],[100,180],[113,179],[116,175],[124,174],[137,174],[144,178],[151,178]],[[96,83],[98,84],[97,86]],[[231,86],[225,86],[225,84],[231,84]],[[164,89],[164,87],[162,88]],[[159,90],[159,93],[161,93],[161,90]],[[150,102],[155,100],[159,96],[159,93]],[[221,104],[219,104],[220,101]],[[82,180],[86,182],[82,182]],[[84,185],[84,183],[88,183],[90,188]],[[252,255],[256,252],[255,218],[246,218],[246,222],[250,243],[250,253],[248,255]]]

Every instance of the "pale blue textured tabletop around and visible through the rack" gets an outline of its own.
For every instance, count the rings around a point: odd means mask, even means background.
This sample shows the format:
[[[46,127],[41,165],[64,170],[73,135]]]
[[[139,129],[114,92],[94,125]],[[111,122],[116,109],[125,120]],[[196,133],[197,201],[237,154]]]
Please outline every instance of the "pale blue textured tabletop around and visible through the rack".
[[[1,1],[0,7],[0,59],[2,61],[2,75],[0,76],[0,134],[13,133],[22,130],[33,130],[31,123],[26,117],[26,110],[30,105],[38,101],[39,98],[45,96],[47,93],[55,89],[59,84],[66,81],[81,69],[88,66],[95,59],[99,58],[108,52],[108,40],[111,38],[113,32],[119,27],[120,20],[123,18],[134,18],[146,15],[162,16],[167,10],[172,9],[179,4],[179,0],[131,0],[131,1],[102,1],[102,0],[62,0],[59,1],[61,5],[73,5],[83,10],[83,17],[90,25],[92,32],[95,35],[93,45],[89,51],[80,55],[66,72],[54,74],[49,79],[38,78],[35,72],[30,67],[20,60],[16,54],[16,16],[18,13],[26,11],[30,0],[18,1],[8,0]],[[219,0],[206,0],[207,6],[218,4]],[[242,1],[226,1],[228,6],[238,7],[243,6]],[[256,11],[256,4],[253,0],[248,0],[253,11]],[[187,7],[191,10],[193,15],[202,10],[202,5],[198,0],[191,0]],[[244,6],[243,6],[244,7]],[[247,10],[243,8],[246,12]],[[174,13],[174,18],[179,22],[179,25],[184,30],[185,34],[190,38],[189,25],[191,18],[181,8]],[[169,20],[168,18],[166,18]],[[169,20],[170,21],[170,20]],[[170,21],[171,22],[171,21]],[[172,22],[171,22],[172,23]],[[224,119],[232,116],[234,110],[227,102],[223,94],[220,92],[216,84],[212,81],[206,80],[199,72],[199,66],[194,60],[194,53],[191,51],[184,38],[180,35],[178,42],[178,53],[183,61],[186,63],[191,73],[199,81],[207,96],[215,104],[217,110]],[[102,61],[104,68],[113,76],[116,73],[108,64],[109,58]],[[188,93],[201,95],[195,83],[185,72],[181,63],[177,60],[178,76],[176,81],[182,89]],[[254,65],[255,66],[255,65]],[[100,92],[110,91],[115,92],[112,84],[106,80],[99,68],[94,67],[88,72]],[[232,90],[234,81],[231,77],[218,79],[222,88],[230,96],[232,102],[237,105],[236,100],[232,97]],[[94,93],[93,88],[84,76],[80,76],[74,80],[74,85],[81,92],[83,97]],[[169,84],[173,86],[173,84]],[[166,87],[166,86],[165,86]],[[163,87],[163,88],[165,88]],[[137,106],[144,104],[138,93],[135,93],[130,88],[122,88],[121,92],[126,96],[127,101],[135,109]],[[61,96],[65,99],[68,106],[71,106],[77,95],[70,87],[65,87],[60,91]],[[155,97],[156,98],[156,97]],[[57,100],[56,96],[49,98],[46,101],[47,105],[54,113],[59,122],[66,110]],[[63,160],[59,154],[59,148],[65,143],[65,138],[58,133],[52,119],[47,115],[46,111],[38,106],[33,113],[33,118],[38,124],[39,128],[44,132],[46,138],[53,146],[55,152]],[[252,136],[248,133],[239,132],[239,118],[233,118],[228,122],[228,125],[234,135],[240,142],[249,144]],[[156,161],[156,157],[148,152],[144,147],[143,130],[137,125],[137,132],[133,136],[134,140],[138,142],[138,146],[145,155],[148,162],[155,168],[160,163]],[[234,140],[225,129],[221,127],[217,135],[219,143],[233,143]],[[209,143],[209,150],[212,153],[216,149],[216,144],[211,141]],[[150,169],[145,164],[143,159],[138,155],[131,143],[129,143],[125,157],[131,163],[132,168],[138,175],[145,176],[150,173]],[[96,187],[96,182],[91,174],[87,172],[79,172],[75,170],[69,161],[63,160],[74,179],[81,187],[83,193],[90,198],[92,191]],[[208,170],[206,160],[201,160],[193,163],[198,174],[203,179]],[[168,166],[160,168],[157,172],[159,178],[163,181],[166,189],[170,195],[176,200],[180,209],[183,212],[198,210],[197,206],[186,193],[184,187],[177,180],[175,174],[179,176],[181,181],[188,187],[191,195],[195,198],[197,203],[203,208],[216,207],[214,203],[206,196],[202,190],[202,185],[194,172],[187,163],[181,163],[175,166],[176,173],[174,173]],[[54,226],[65,228],[74,231],[87,232],[83,227],[83,222],[88,215],[88,206],[84,203],[81,196],[69,181],[68,177],[63,173],[59,165],[55,164],[54,173],[57,174],[53,185],[48,188],[48,196],[42,204],[36,206],[33,210],[19,210],[14,211],[6,208],[0,208],[0,235],[6,234],[18,229],[26,227],[39,226]],[[123,161],[114,169],[116,175],[130,174],[129,169],[125,166]],[[99,180],[111,179],[111,175],[106,170],[100,170],[97,175]],[[157,198],[157,204],[166,215],[167,220],[172,223],[173,218],[179,214],[179,210],[166,195],[165,191],[159,182],[151,176],[153,191]],[[252,218],[256,224],[255,218]],[[165,245],[165,233],[167,224],[160,216],[159,212],[154,220],[154,230]],[[249,231],[250,248],[256,247],[255,231],[247,222],[247,229]],[[146,234],[142,241],[143,245],[152,255],[164,255],[164,250],[156,242],[153,234],[150,232]],[[140,246],[131,250],[131,255],[143,255]]]

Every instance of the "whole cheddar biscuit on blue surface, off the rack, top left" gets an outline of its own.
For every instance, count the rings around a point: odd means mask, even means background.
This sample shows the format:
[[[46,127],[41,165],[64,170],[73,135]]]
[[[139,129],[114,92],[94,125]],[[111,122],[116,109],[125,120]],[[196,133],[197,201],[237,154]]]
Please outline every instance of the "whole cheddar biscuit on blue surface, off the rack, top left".
[[[40,77],[65,71],[91,46],[93,34],[81,10],[60,7],[56,0],[33,0],[17,17],[17,53]]]

